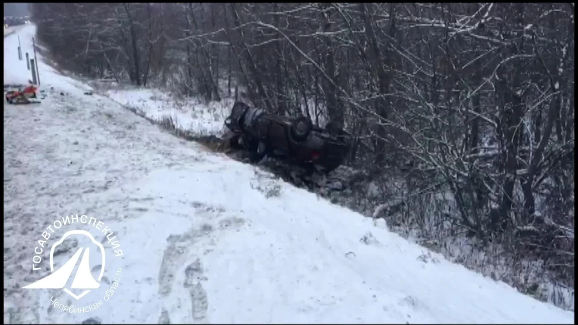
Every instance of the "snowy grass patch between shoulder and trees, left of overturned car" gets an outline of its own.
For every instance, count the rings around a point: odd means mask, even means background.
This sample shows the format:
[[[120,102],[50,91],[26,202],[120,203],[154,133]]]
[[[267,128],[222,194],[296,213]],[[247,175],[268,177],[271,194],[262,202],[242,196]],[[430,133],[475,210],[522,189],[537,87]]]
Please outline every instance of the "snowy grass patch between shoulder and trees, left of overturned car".
[[[191,136],[221,135],[234,101],[223,99],[203,104],[197,98],[175,98],[151,88],[114,89],[105,95],[147,119],[158,123],[171,121],[177,130]]]

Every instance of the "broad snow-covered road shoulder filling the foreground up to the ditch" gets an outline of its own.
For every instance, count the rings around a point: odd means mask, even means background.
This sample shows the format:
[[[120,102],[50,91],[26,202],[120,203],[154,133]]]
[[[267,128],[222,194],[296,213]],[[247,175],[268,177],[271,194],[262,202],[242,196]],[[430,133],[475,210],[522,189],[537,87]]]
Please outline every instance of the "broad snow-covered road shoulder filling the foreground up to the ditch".
[[[27,72],[13,63],[9,76]],[[39,67],[54,87],[45,101],[3,111],[5,323],[574,323],[573,312],[174,138]],[[50,273],[47,249],[32,269],[42,232],[76,214],[102,221],[120,242],[114,257],[95,230],[102,224],[60,227],[104,244],[101,287],[78,301],[60,289],[21,289]]]

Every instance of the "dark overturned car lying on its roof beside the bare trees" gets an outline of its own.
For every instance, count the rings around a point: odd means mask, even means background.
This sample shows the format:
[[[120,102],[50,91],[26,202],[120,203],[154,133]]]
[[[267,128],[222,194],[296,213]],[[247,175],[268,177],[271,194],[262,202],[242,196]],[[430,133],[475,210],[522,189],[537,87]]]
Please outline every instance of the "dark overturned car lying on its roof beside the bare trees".
[[[230,130],[226,137],[229,146],[247,150],[251,162],[269,156],[308,172],[329,173],[349,152],[347,133],[332,123],[320,128],[305,116],[273,115],[243,102],[235,103],[225,126]]]

